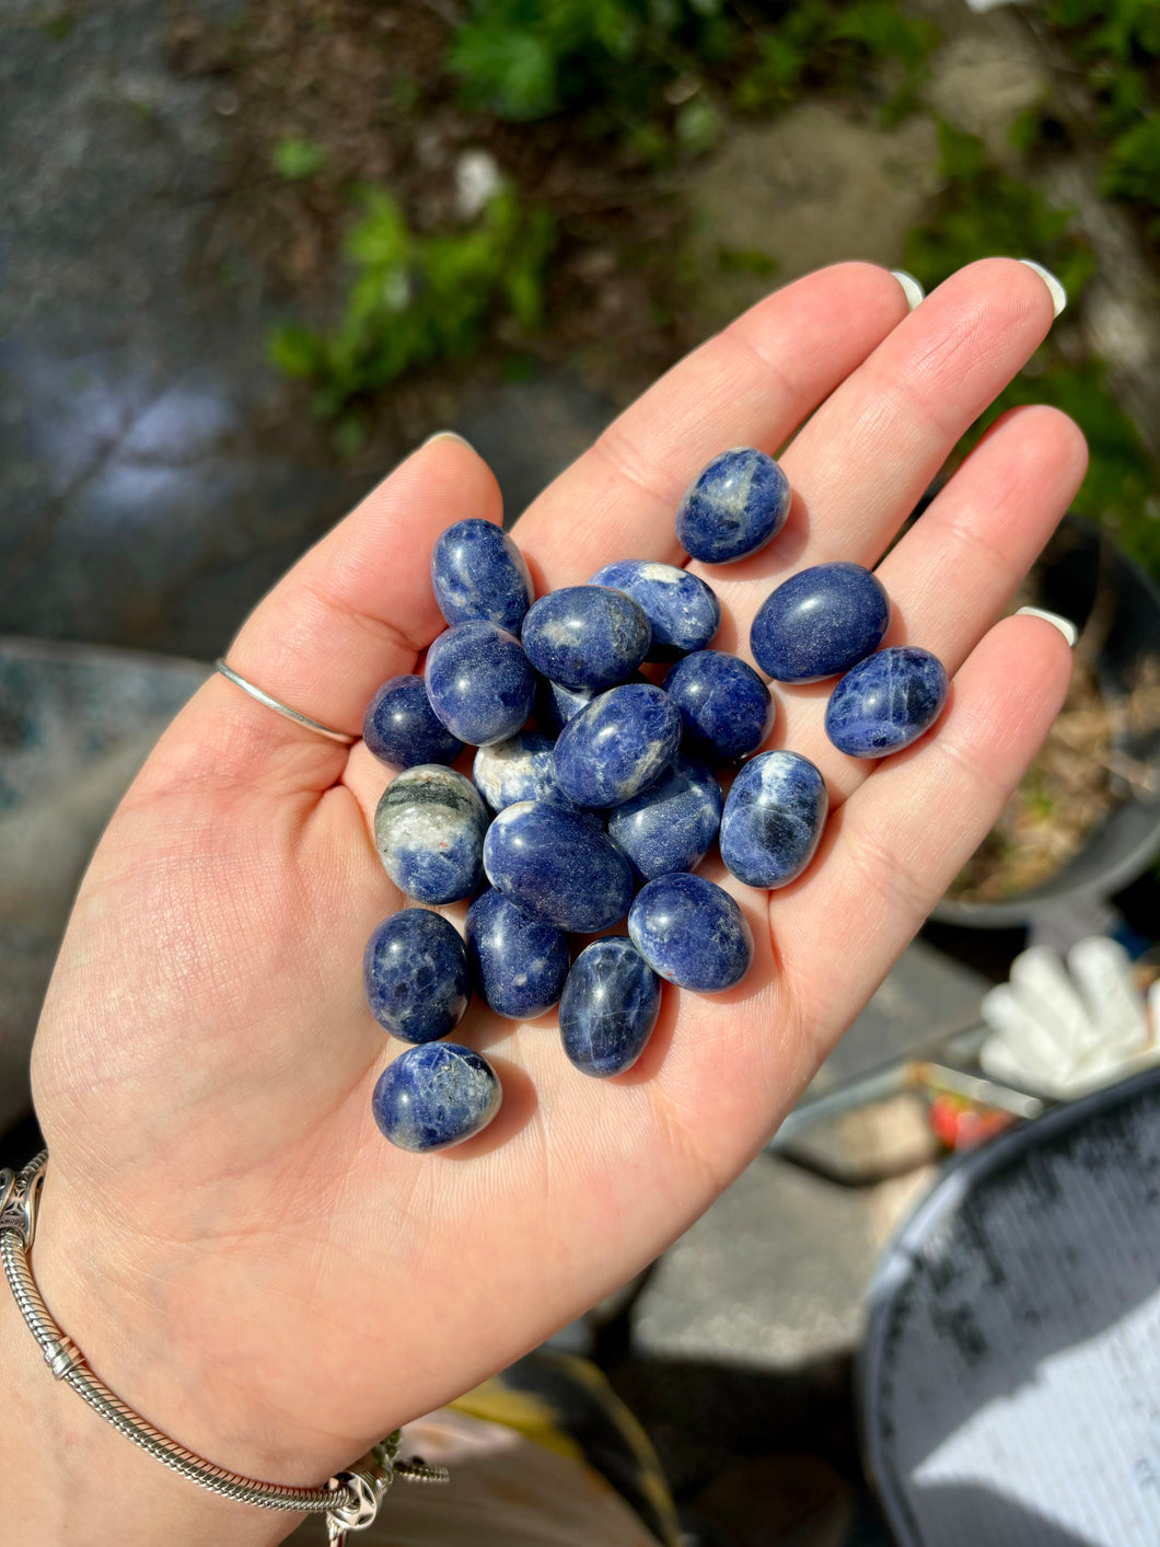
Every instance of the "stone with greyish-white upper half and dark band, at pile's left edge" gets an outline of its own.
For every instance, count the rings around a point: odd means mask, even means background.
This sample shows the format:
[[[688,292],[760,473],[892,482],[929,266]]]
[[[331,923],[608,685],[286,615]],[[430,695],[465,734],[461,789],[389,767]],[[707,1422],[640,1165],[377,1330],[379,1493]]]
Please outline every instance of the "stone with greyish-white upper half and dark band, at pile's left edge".
[[[424,764],[391,780],[374,811],[374,843],[399,891],[458,902],[479,883],[487,808],[455,769]]]

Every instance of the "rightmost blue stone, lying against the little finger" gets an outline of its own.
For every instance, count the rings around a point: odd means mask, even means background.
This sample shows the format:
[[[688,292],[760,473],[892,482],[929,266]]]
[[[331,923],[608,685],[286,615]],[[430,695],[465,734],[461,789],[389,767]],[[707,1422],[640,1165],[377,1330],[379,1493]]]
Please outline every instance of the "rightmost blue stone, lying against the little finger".
[[[826,705],[826,735],[852,758],[885,758],[917,741],[947,702],[942,661],[917,645],[866,656],[838,682]]]

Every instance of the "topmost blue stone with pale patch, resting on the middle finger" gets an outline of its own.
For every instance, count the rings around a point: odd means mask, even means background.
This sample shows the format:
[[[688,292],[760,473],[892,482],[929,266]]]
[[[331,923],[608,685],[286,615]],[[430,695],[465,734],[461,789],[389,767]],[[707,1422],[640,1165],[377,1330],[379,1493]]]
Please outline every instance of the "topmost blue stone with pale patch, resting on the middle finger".
[[[722,452],[699,475],[677,511],[677,541],[707,565],[727,565],[764,548],[786,524],[789,480],[764,452]]]

